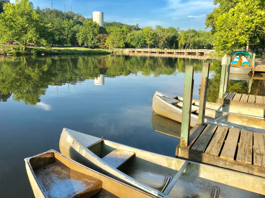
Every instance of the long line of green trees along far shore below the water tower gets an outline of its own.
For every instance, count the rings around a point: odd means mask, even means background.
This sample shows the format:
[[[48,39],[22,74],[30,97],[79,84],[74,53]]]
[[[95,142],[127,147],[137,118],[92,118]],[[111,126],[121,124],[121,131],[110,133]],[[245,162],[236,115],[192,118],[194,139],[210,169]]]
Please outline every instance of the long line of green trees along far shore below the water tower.
[[[140,28],[139,24],[104,22],[100,27],[92,18],[49,8],[34,9],[28,0],[0,0],[0,42],[14,41],[24,50],[29,43],[45,46],[80,45],[89,48],[211,49],[209,31],[180,30],[179,27]],[[19,17],[17,17],[19,16]]]

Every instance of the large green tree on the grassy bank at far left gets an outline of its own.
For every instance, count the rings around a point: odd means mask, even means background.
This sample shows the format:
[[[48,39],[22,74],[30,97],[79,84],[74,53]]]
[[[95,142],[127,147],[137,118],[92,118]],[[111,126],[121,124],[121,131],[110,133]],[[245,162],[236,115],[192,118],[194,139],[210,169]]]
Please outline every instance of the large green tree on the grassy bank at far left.
[[[48,41],[49,26],[45,25],[33,4],[28,0],[16,0],[14,4],[5,3],[5,12],[0,15],[0,41],[15,41],[23,46],[27,43],[50,47]]]

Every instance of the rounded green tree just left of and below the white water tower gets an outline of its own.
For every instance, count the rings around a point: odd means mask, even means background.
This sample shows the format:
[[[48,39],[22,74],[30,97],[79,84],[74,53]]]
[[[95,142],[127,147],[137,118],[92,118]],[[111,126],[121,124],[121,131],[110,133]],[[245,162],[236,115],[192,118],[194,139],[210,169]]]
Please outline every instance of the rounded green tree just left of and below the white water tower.
[[[80,27],[79,32],[76,34],[79,45],[85,44],[94,47],[97,42],[97,35],[99,34],[99,24],[96,22],[85,20]]]

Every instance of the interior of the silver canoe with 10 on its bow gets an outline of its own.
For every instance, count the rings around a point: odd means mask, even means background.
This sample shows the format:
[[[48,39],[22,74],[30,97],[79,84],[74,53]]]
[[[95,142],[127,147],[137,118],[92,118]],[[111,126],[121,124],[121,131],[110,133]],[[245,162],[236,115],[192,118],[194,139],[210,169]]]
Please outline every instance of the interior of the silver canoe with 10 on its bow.
[[[264,186],[253,186],[257,182],[264,183],[258,177],[157,155],[107,140],[88,149],[122,173],[172,197],[223,198],[233,194],[232,197],[239,198],[263,197],[264,194]]]

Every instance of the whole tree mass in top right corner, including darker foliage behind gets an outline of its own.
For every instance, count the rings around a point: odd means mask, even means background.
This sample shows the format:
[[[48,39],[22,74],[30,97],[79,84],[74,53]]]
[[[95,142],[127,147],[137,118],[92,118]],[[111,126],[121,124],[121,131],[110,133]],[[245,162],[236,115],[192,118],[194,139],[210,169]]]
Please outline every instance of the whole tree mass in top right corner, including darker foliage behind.
[[[218,7],[207,15],[205,25],[216,50],[265,48],[264,0],[214,0],[214,4]]]

